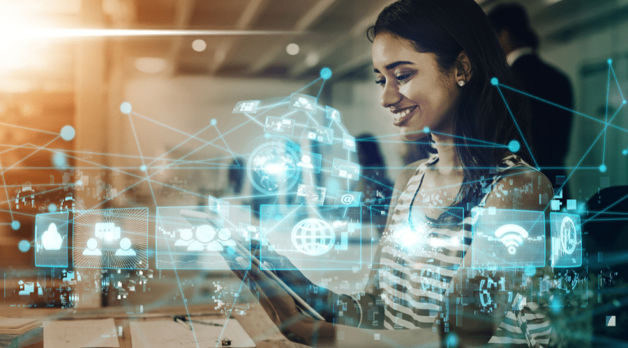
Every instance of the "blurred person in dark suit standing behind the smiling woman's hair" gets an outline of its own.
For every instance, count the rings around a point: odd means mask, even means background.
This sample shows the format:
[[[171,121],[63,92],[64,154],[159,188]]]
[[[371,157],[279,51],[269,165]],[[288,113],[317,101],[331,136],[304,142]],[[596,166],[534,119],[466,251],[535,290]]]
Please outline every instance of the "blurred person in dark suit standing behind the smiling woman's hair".
[[[530,27],[528,14],[518,3],[495,6],[488,13],[500,45],[506,54],[516,79],[523,90],[534,96],[557,104],[557,107],[530,97],[530,139],[528,145],[541,173],[551,181],[558,193],[566,179],[565,157],[569,150],[569,135],[574,100],[571,83],[564,73],[541,61],[537,54],[539,38]],[[566,110],[566,109],[569,110]],[[523,144],[522,144],[523,145]],[[568,197],[567,183],[562,189],[563,198]]]

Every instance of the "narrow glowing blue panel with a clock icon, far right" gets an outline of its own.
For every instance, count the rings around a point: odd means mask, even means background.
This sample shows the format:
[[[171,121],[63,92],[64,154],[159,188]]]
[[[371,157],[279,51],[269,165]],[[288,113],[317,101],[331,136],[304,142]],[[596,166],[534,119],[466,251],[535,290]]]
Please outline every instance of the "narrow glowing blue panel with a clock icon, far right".
[[[580,216],[550,213],[552,267],[582,266],[582,230]]]

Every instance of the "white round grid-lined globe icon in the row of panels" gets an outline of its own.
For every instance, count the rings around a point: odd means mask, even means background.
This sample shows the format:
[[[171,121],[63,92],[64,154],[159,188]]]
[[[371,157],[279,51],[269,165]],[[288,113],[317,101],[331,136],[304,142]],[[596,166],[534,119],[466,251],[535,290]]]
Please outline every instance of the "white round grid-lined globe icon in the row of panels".
[[[320,219],[304,219],[292,228],[292,245],[306,255],[323,255],[331,250],[334,242],[334,228]]]

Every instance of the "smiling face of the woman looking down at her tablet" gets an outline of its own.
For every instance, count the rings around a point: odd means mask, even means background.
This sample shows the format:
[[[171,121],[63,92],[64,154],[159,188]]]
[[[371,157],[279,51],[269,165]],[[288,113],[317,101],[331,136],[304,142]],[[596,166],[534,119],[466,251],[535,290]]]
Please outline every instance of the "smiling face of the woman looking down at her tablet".
[[[424,136],[424,128],[453,132],[459,90],[457,69],[442,72],[435,54],[417,52],[412,42],[392,33],[373,40],[373,67],[382,86],[381,104],[408,140]]]

